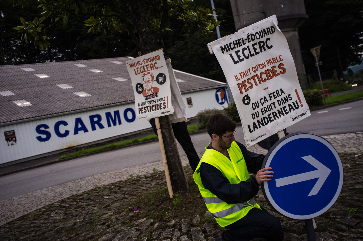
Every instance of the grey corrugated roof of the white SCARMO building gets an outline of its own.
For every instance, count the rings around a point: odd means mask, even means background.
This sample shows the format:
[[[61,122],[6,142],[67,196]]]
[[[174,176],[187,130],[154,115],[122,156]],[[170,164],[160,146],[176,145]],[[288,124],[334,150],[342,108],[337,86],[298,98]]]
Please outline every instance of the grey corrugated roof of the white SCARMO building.
[[[126,65],[117,64],[125,63],[130,58],[0,66],[0,91],[14,93],[0,95],[0,123],[133,101],[134,90]],[[76,64],[87,65],[87,68],[79,68]],[[34,71],[24,71],[24,68],[32,68]],[[94,73],[89,69],[103,72]],[[176,78],[184,81],[178,82],[182,93],[225,85],[178,70],[174,73]],[[35,74],[46,74],[50,77],[39,78]],[[120,77],[127,80],[114,79]],[[62,89],[57,86],[59,84],[67,84],[73,88]],[[73,94],[74,92],[85,92],[91,96],[82,98]],[[32,105],[18,107],[13,102],[23,99]]]

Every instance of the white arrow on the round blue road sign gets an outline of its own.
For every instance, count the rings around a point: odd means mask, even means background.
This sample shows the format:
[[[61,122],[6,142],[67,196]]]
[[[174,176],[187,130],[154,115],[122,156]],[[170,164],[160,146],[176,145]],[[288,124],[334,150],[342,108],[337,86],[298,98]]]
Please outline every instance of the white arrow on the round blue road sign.
[[[325,180],[328,178],[331,170],[310,155],[302,156],[301,158],[306,160],[306,162],[310,163],[311,165],[313,165],[315,168],[317,168],[317,170],[276,179],[276,187],[281,187],[285,185],[299,183],[301,181],[307,181],[319,178],[318,181],[315,183],[313,189],[311,189],[311,192],[307,196],[309,197],[317,195],[320,188],[324,184]]]

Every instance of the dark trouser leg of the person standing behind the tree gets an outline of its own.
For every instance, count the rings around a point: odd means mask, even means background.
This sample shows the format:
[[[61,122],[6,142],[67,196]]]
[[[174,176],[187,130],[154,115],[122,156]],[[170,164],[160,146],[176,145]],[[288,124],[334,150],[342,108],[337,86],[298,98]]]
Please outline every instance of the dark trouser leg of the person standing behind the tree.
[[[179,142],[180,146],[183,148],[185,154],[187,155],[190,167],[193,171],[195,171],[200,159],[194,149],[192,139],[189,136],[187,124],[185,123],[185,121],[178,122],[175,123],[172,128],[175,139]]]

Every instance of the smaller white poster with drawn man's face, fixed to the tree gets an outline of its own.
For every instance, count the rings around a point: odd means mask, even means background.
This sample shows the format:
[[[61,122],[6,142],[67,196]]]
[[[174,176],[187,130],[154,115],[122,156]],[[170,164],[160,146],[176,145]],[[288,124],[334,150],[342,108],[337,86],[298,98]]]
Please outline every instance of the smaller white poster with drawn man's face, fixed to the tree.
[[[162,49],[129,60],[126,66],[134,88],[137,120],[174,113]]]

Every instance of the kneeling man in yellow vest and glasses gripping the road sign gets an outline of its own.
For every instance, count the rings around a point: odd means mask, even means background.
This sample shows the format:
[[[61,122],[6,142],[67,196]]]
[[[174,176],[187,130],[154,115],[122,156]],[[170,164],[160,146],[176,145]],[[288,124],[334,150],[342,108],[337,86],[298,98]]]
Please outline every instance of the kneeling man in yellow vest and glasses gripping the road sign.
[[[282,240],[284,229],[280,221],[254,200],[259,186],[271,180],[273,171],[271,167],[261,169],[264,155],[248,151],[235,141],[235,128],[236,122],[226,115],[209,118],[207,132],[212,142],[205,147],[193,175],[208,211],[220,226],[228,229],[216,241],[258,237]],[[248,172],[256,173],[256,177],[250,177]]]

